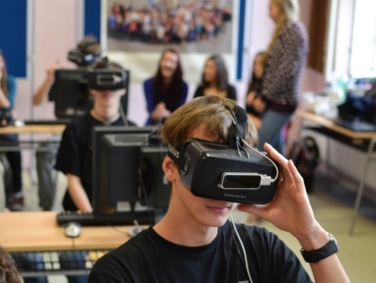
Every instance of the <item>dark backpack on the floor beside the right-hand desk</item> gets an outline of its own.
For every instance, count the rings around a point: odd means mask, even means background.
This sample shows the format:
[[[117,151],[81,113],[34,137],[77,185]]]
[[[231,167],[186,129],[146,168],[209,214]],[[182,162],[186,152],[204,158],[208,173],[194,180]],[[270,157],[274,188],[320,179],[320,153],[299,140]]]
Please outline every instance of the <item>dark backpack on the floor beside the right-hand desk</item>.
[[[289,159],[302,175],[307,191],[312,190],[313,173],[319,163],[319,157],[319,147],[314,138],[307,136],[293,143]]]

